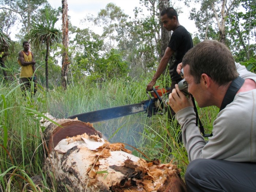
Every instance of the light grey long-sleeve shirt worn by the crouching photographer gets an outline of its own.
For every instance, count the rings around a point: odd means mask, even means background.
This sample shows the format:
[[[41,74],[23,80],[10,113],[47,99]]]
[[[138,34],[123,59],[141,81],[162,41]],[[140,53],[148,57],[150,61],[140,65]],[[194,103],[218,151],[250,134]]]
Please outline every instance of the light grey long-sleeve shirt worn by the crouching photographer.
[[[236,67],[242,78],[256,82],[256,74],[239,63]],[[196,127],[193,107],[178,111],[176,118],[181,125],[189,161],[206,158],[256,162],[256,89],[236,94],[234,101],[219,112],[208,143]]]

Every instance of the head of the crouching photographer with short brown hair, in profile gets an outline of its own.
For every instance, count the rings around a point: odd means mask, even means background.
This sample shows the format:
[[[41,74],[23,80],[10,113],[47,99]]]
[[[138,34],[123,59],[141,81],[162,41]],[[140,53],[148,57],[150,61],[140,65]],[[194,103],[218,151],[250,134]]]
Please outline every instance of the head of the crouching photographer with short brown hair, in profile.
[[[200,42],[182,60],[188,91],[199,107],[220,107],[229,83],[238,76],[230,50],[214,40]]]

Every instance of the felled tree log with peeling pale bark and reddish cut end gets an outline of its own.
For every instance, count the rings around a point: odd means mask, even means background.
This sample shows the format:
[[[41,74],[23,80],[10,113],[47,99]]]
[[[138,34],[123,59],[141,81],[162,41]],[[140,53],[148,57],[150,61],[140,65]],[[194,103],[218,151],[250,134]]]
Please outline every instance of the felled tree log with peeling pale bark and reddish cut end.
[[[54,175],[58,191],[186,191],[176,165],[135,157],[124,144],[104,140],[90,123],[69,119],[57,120],[57,123],[64,128],[50,124],[45,130],[51,148],[45,169],[48,177]],[[75,131],[77,125],[80,131],[76,136],[59,141],[59,134],[63,137],[64,132],[70,132],[62,129]],[[86,132],[81,133],[82,129]]]

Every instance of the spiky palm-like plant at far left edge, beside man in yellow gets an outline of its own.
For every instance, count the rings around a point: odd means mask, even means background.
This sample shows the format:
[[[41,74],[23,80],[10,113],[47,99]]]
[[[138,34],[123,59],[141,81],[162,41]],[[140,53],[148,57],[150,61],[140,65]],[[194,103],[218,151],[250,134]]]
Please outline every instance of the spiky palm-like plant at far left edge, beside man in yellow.
[[[7,72],[5,71],[5,64],[4,64],[4,57],[8,56],[9,50],[11,48],[12,41],[8,35],[6,35],[1,29],[0,29],[0,63],[1,67],[3,68],[3,74],[4,79],[8,80],[7,78]]]

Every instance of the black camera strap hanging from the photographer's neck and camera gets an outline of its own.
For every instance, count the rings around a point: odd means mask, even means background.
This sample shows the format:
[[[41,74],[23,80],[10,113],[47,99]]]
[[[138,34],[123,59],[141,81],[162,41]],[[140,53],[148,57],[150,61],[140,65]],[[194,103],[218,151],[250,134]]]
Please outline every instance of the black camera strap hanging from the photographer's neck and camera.
[[[223,98],[223,101],[221,103],[221,108],[219,109],[219,112],[234,100],[237,91],[242,87],[242,85],[244,84],[244,81],[245,80],[243,78],[238,76],[236,79],[234,79],[231,82],[231,84],[230,84],[229,88],[227,89],[227,92],[226,92],[226,94]],[[191,99],[192,99],[192,102],[193,102],[194,111],[196,113],[196,126],[199,127],[200,133],[202,134],[203,137],[207,137],[207,138],[211,137],[212,133],[211,134],[205,134],[204,133],[204,127],[203,127],[203,125],[200,121],[200,118],[198,116],[195,99],[193,98],[192,95],[191,95]]]

